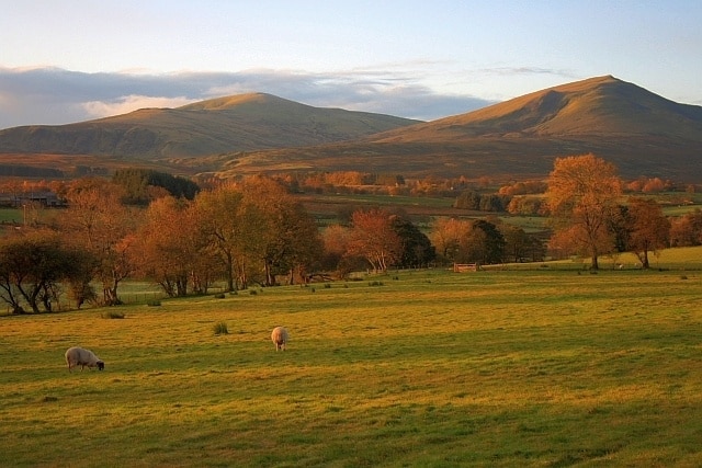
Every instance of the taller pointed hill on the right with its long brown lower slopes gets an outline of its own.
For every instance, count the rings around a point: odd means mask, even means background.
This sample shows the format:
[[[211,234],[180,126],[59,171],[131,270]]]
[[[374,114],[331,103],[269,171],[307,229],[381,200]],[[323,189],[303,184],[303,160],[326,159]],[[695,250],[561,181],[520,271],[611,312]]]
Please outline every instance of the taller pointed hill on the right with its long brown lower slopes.
[[[597,77],[352,142],[231,155],[225,170],[274,169],[285,160],[318,170],[543,178],[555,158],[589,152],[624,178],[700,182],[702,107]]]

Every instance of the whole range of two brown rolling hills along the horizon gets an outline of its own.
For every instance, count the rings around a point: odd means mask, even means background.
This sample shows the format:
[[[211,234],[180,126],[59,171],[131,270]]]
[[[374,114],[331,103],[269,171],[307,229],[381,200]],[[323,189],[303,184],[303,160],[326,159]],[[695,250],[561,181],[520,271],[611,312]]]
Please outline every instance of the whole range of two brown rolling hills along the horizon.
[[[702,107],[611,76],[432,122],[245,94],[63,126],[0,132],[0,162],[89,155],[181,173],[292,170],[405,176],[544,178],[557,157],[592,152],[622,176],[702,181]],[[14,153],[9,158],[9,153]],[[58,156],[57,156],[58,155]]]

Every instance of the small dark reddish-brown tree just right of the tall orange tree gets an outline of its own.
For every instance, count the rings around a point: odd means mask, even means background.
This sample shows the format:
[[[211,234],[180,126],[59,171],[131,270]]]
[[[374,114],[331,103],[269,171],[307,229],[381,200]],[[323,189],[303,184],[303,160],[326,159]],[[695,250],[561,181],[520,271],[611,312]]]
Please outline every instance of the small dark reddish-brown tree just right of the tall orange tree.
[[[625,226],[626,250],[636,254],[643,269],[648,269],[648,252],[657,253],[668,246],[670,221],[655,199],[631,198]]]

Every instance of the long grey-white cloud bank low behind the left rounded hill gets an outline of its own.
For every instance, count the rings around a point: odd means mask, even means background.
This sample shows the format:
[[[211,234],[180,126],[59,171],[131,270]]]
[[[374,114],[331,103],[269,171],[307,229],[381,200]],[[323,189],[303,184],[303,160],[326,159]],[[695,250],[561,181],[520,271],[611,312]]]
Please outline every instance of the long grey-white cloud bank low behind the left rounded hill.
[[[393,67],[326,73],[270,69],[83,73],[55,67],[0,67],[0,128],[68,124],[247,92],[265,92],[319,107],[423,121],[491,104],[471,95],[434,91],[411,73]]]

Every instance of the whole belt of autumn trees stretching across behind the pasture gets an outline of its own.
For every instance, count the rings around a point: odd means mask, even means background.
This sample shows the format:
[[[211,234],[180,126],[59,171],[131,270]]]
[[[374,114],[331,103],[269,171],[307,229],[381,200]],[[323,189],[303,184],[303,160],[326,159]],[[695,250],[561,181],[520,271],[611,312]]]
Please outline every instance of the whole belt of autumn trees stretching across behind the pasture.
[[[66,208],[0,239],[0,298],[13,312],[38,312],[53,310],[63,294],[78,308],[117,305],[127,278],[184,296],[215,283],[234,292],[358,270],[541,261],[547,253],[588,255],[597,269],[600,255],[631,251],[648,267],[649,252],[702,242],[699,209],[671,221],[650,198],[622,203],[616,168],[592,155],[555,161],[543,202],[550,239],[496,217],[439,218],[422,230],[384,208],[359,209],[320,229],[280,179],[200,190],[152,175],[128,171],[64,186]]]

